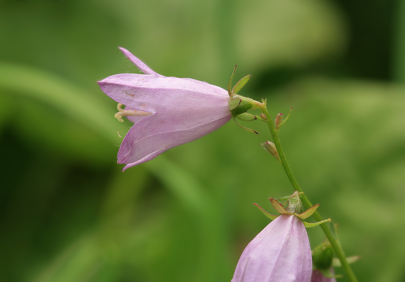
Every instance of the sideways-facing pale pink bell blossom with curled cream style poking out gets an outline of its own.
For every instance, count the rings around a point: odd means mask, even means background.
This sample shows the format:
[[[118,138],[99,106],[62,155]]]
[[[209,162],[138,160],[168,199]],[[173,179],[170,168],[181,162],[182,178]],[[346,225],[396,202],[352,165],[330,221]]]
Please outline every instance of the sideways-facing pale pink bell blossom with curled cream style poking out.
[[[209,134],[232,118],[227,90],[192,78],[163,76],[119,49],[144,73],[115,74],[98,81],[101,90],[119,103],[116,117],[122,121],[126,116],[135,123],[118,151],[118,163],[127,164],[124,170]]]

